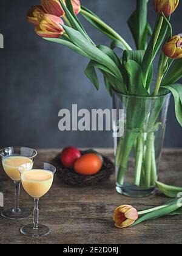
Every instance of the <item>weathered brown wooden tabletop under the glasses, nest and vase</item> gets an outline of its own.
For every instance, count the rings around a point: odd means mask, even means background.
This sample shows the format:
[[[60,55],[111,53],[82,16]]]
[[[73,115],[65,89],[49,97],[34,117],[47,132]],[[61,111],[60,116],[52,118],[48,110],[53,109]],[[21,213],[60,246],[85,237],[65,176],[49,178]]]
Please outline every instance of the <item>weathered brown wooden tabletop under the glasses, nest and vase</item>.
[[[100,150],[113,160],[112,150]],[[39,150],[37,161],[50,162],[58,150]],[[166,149],[163,153],[160,180],[182,186],[182,149]],[[1,190],[5,207],[13,205],[13,183],[0,170]],[[130,204],[138,209],[160,205],[168,199],[157,194],[143,199],[121,196],[115,191],[115,177],[93,187],[69,187],[55,177],[52,189],[40,201],[40,223],[50,227],[51,234],[30,239],[20,233],[23,221],[9,221],[0,217],[1,244],[27,243],[182,243],[182,216],[166,216],[143,222],[133,228],[117,229],[112,220],[118,205]],[[21,205],[33,207],[33,199],[21,190]]]

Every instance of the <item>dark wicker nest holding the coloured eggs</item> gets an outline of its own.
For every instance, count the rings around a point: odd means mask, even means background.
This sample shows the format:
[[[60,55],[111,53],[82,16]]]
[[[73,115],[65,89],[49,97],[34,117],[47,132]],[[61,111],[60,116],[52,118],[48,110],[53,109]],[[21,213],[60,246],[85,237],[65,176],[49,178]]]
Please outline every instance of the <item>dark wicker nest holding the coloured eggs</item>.
[[[56,155],[52,160],[52,164],[57,168],[58,177],[69,185],[76,185],[78,187],[95,185],[99,182],[105,182],[109,179],[110,175],[114,172],[114,165],[109,158],[103,156],[103,167],[101,170],[91,176],[84,176],[76,173],[73,169],[68,169],[62,165],[60,161],[60,154]]]

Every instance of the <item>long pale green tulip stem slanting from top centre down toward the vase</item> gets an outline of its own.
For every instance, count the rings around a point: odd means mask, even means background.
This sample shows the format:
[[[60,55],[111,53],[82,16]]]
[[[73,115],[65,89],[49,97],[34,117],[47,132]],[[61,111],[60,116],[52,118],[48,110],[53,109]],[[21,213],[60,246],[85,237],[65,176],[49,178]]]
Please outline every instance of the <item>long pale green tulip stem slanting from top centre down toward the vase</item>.
[[[119,35],[115,30],[113,30],[110,26],[108,26],[106,23],[104,23],[104,21],[100,20],[99,18],[97,18],[95,15],[92,15],[92,13],[87,12],[86,10],[81,9],[81,14],[86,15],[87,17],[89,17],[91,20],[95,21],[96,23],[98,23],[100,26],[102,26],[104,29],[106,29],[107,31],[110,32],[110,34],[113,35],[113,37],[119,41],[121,41],[121,43],[124,44],[124,46],[126,47],[127,50],[132,51],[132,48],[130,47],[130,45],[124,40],[123,37],[121,37],[121,35]]]

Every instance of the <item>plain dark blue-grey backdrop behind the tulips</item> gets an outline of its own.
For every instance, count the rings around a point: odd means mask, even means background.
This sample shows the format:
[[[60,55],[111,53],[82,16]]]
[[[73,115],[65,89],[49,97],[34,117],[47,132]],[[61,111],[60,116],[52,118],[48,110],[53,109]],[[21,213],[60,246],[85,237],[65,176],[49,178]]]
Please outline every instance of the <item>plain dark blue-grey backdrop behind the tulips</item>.
[[[0,33],[4,35],[1,62],[0,146],[25,145],[33,148],[110,147],[110,132],[59,132],[61,108],[110,108],[111,99],[101,80],[99,92],[84,76],[87,60],[70,49],[50,44],[35,35],[26,21],[26,12],[39,0],[1,0]],[[153,0],[149,18],[155,22]],[[127,18],[135,8],[134,0],[82,0],[120,32],[134,47]],[[181,33],[182,3],[173,18],[174,33]],[[81,19],[82,20],[82,19]],[[96,43],[109,44],[103,34],[83,21]],[[181,127],[170,105],[165,146],[181,147]]]

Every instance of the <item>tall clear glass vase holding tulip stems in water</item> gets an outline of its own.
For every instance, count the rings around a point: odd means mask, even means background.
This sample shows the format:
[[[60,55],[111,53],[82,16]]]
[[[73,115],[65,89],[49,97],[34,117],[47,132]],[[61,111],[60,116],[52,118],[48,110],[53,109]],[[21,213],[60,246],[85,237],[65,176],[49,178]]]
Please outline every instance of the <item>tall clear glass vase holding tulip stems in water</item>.
[[[114,130],[123,126],[123,137],[115,138],[116,191],[130,197],[155,192],[166,130],[170,93],[161,96],[129,96],[113,91],[117,115]]]

